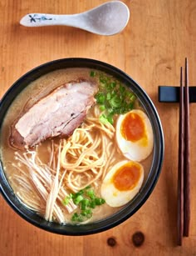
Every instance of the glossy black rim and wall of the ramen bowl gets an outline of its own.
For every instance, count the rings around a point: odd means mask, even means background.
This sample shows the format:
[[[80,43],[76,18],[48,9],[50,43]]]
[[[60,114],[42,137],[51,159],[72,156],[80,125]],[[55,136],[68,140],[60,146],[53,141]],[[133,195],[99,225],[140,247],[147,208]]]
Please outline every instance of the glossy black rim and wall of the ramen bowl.
[[[0,131],[2,127],[2,121],[7,113],[7,109],[12,104],[14,98],[17,94],[22,91],[29,83],[39,78],[40,76],[54,71],[60,68],[95,68],[110,75],[115,76],[124,82],[131,90],[140,98],[143,103],[146,113],[149,115],[149,119],[152,123],[154,131],[154,153],[153,153],[153,163],[149,171],[149,175],[145,180],[145,184],[142,186],[140,193],[138,193],[135,198],[128,203],[119,212],[110,216],[110,218],[105,218],[103,220],[97,221],[96,223],[87,223],[84,225],[61,225],[58,223],[49,223],[42,217],[38,216],[37,213],[32,212],[28,208],[24,207],[22,203],[18,200],[16,195],[13,193],[12,188],[7,182],[6,175],[3,171],[3,165],[1,161],[0,166],[0,188],[2,196],[6,199],[7,203],[18,213],[22,218],[26,219],[27,222],[33,225],[50,231],[52,233],[60,233],[64,235],[86,235],[91,233],[99,233],[105,231],[109,228],[113,228],[116,225],[124,222],[127,218],[130,218],[149,198],[150,193],[152,193],[155,184],[159,178],[159,173],[161,171],[161,166],[164,157],[164,135],[159,120],[159,115],[154,108],[154,104],[150,100],[149,96],[145,91],[140,88],[140,86],[135,83],[135,81],[130,78],[126,73],[118,68],[115,68],[107,63],[102,63],[100,61],[88,59],[88,58],[64,58],[52,61],[50,63],[45,63],[37,68],[32,69],[32,71],[26,73],[19,78],[16,83],[12,85],[7,91],[0,103]]]

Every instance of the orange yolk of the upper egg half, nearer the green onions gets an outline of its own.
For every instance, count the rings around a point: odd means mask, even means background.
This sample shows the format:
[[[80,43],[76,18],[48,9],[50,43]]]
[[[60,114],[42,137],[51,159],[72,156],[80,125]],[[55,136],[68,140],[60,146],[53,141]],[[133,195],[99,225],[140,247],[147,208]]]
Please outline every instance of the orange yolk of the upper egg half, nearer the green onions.
[[[120,132],[125,140],[136,142],[145,138],[145,123],[137,113],[125,115],[120,127]]]

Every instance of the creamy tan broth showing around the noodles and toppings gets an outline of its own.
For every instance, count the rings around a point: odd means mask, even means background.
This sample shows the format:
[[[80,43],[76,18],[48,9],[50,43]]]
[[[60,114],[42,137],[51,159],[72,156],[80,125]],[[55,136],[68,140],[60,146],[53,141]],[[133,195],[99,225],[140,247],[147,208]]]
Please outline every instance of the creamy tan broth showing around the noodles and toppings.
[[[52,92],[55,88],[60,87],[62,84],[69,83],[70,81],[76,81],[78,78],[91,80],[95,83],[99,83],[99,77],[97,76],[90,76],[91,70],[89,68],[66,68],[66,69],[60,69],[56,70],[54,72],[48,73],[47,75],[42,76],[41,78],[38,78],[36,81],[30,83],[27,88],[25,88],[22,93],[20,93],[17,98],[14,100],[12,105],[10,106],[7,116],[4,119],[3,125],[2,125],[2,136],[1,136],[1,154],[2,154],[2,163],[4,171],[7,175],[8,182],[10,183],[14,193],[17,194],[17,197],[24,203],[24,197],[22,195],[23,193],[23,187],[22,183],[16,183],[16,175],[22,175],[19,169],[16,168],[18,166],[18,158],[16,158],[16,152],[17,149],[10,147],[10,144],[8,142],[8,138],[11,133],[11,127],[12,124],[15,122],[16,118],[22,115],[25,111],[27,111],[28,108],[31,108],[33,104],[37,103],[37,101],[40,98],[45,97],[48,95],[48,93]],[[135,108],[141,108],[139,107],[140,104],[138,102],[135,103]],[[94,106],[95,107],[95,106]],[[93,108],[94,108],[93,107]],[[88,115],[91,116],[91,112],[93,111],[93,108],[89,110]],[[141,108],[142,109],[142,108]],[[116,117],[114,118],[114,127],[116,123]],[[60,143],[60,138],[54,138],[52,141],[55,145],[58,145]],[[125,160],[125,156],[120,152],[120,149],[118,148],[118,145],[114,139],[113,148],[116,148],[115,152],[115,163],[119,163],[122,160]],[[47,139],[45,142],[41,143],[37,147],[37,154],[39,158],[41,159],[42,163],[48,164],[50,162],[50,148],[51,148],[51,140]],[[25,153],[26,149],[23,150],[23,152],[18,151],[20,154]],[[149,155],[148,158],[141,161],[141,164],[143,165],[145,169],[145,180],[149,174],[149,169],[152,164],[152,153]],[[19,164],[20,166],[20,164]],[[24,168],[24,167],[22,167]],[[62,174],[61,174],[62,175]],[[66,174],[65,174],[66,175]],[[14,178],[14,176],[16,176]],[[37,211],[37,213],[41,214],[43,217],[45,217],[45,209],[46,209],[46,202],[42,201],[39,197],[37,197],[37,188],[35,188],[35,185],[32,183],[31,178],[28,178],[28,190],[29,194],[31,194],[31,198],[33,201],[33,198],[37,201],[37,205],[40,205],[40,210]],[[99,178],[96,182],[96,186],[92,184],[92,187],[95,189],[96,195],[98,197],[101,197],[100,194],[100,185],[102,183],[101,178]],[[65,186],[66,188],[66,181],[62,180],[62,186]],[[71,189],[67,189],[67,193],[72,193]],[[65,216],[65,223],[71,222],[71,214],[68,213],[63,203],[61,203],[61,199],[57,198],[57,201],[59,201],[59,205],[61,206],[61,211]],[[24,203],[26,205],[26,203]],[[104,203],[94,209],[92,218],[89,220],[90,222],[106,218],[110,216],[110,214],[113,214],[117,212],[122,207],[110,207],[107,203]],[[73,211],[74,212],[74,211]],[[56,220],[56,217],[52,217],[52,221],[58,221]],[[63,223],[63,224],[65,224]]]

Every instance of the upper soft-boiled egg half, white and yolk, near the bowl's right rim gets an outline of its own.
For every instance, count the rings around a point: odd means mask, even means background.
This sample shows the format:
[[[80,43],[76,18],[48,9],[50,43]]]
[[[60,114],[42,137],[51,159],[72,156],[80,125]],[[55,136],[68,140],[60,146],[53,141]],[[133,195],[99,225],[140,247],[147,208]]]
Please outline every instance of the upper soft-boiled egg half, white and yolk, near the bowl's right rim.
[[[139,162],[147,158],[154,145],[147,115],[140,109],[120,115],[116,123],[116,141],[125,158]]]

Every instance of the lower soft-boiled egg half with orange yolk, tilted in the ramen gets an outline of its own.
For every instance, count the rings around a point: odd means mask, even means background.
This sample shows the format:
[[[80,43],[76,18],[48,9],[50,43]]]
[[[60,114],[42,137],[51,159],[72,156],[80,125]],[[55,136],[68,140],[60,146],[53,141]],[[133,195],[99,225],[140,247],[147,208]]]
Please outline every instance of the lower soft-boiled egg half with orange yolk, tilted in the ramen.
[[[125,205],[139,192],[144,173],[140,163],[128,160],[116,163],[103,180],[101,197],[111,207]]]

